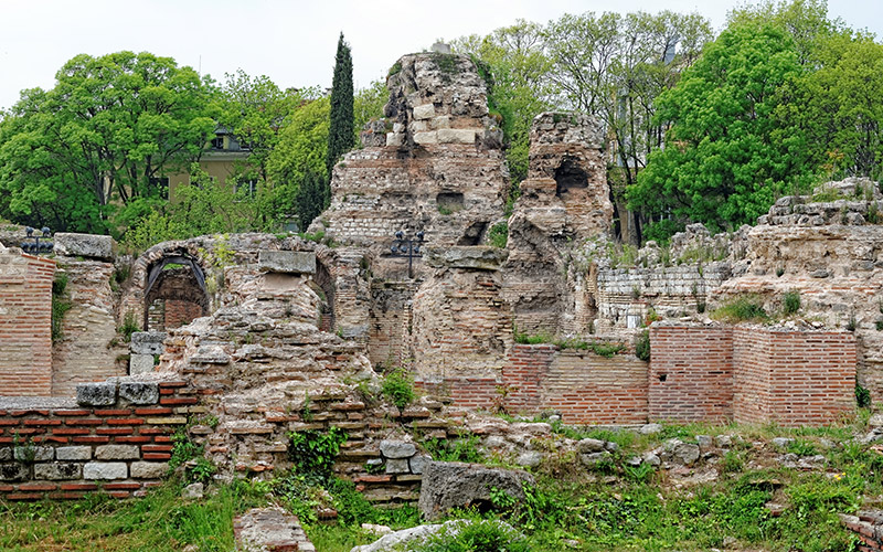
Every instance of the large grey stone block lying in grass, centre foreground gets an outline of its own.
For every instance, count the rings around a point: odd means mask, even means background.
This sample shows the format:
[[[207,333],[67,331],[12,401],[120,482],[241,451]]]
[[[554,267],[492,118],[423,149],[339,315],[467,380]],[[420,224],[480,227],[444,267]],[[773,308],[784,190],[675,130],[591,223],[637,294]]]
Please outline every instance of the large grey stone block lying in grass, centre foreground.
[[[426,519],[436,519],[451,508],[490,506],[490,490],[524,499],[523,484],[533,484],[526,471],[489,468],[459,461],[432,461],[423,473],[418,507]]]

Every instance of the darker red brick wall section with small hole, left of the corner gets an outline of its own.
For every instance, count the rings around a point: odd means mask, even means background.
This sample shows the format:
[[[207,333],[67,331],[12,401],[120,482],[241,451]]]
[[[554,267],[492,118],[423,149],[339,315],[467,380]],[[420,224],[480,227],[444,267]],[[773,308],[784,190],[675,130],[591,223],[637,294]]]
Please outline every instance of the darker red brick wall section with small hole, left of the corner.
[[[724,421],[733,414],[733,331],[655,325],[650,330],[651,420]]]

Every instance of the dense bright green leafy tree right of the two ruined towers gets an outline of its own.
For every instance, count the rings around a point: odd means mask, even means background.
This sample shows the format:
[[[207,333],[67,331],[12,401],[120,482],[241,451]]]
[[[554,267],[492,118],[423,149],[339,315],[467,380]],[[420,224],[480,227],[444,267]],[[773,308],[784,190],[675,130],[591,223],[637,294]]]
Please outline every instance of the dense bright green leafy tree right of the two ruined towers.
[[[773,24],[727,28],[656,102],[670,124],[628,190],[632,208],[714,230],[753,223],[810,168],[775,139],[780,88],[801,74],[794,41]]]

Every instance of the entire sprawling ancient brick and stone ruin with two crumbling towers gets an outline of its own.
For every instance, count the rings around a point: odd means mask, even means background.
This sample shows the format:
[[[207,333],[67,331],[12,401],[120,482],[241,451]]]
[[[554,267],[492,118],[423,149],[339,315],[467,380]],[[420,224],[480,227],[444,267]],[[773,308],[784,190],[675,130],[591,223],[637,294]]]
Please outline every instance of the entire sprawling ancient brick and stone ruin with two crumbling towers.
[[[507,210],[472,62],[421,53],[396,68],[385,119],[334,168],[318,242],[214,235],[130,258],[109,236],[57,234],[51,255],[0,236],[0,498],[138,496],[183,426],[221,478],[286,468],[288,432],[339,427],[336,471],[389,502],[417,499],[429,458],[413,434],[528,431],[496,412],[815,426],[854,411],[857,382],[883,399],[875,183],[828,183],[857,199],[783,198],[755,226],[690,226],[626,259],[595,120],[535,118]],[[799,312],[773,323],[709,317],[748,295],[781,312],[788,293]],[[421,391],[401,408],[380,393],[395,370]],[[530,453],[510,437],[498,445]]]

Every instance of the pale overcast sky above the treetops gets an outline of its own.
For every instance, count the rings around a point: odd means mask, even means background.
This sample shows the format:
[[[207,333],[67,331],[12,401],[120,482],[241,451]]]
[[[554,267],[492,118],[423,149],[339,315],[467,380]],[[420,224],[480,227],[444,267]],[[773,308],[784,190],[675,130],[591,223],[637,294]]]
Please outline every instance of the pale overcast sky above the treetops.
[[[736,0],[0,0],[0,108],[23,88],[51,88],[79,53],[120,50],[171,56],[222,81],[242,68],[283,88],[330,86],[341,31],[363,87],[402,54],[436,39],[486,34],[517,19],[616,9],[699,12],[715,30]],[[883,36],[883,1],[831,0],[829,13]]]

